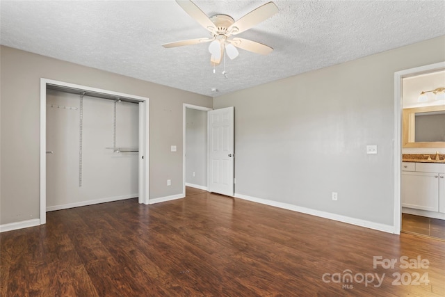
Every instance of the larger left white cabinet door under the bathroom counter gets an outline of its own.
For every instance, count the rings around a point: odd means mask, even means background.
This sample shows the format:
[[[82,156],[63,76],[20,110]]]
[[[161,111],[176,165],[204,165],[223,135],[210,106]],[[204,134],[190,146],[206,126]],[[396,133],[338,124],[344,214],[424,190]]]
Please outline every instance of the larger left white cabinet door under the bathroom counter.
[[[439,174],[402,172],[402,206],[439,211]]]

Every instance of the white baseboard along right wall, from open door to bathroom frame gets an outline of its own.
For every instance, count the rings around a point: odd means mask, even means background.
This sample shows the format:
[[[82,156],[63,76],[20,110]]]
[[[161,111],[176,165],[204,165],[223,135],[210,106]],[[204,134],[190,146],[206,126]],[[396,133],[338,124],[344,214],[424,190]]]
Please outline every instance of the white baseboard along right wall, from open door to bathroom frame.
[[[267,199],[261,199],[261,198],[254,198],[250,197],[248,195],[238,194],[235,193],[236,198],[240,198],[243,200],[249,200],[252,202],[257,202],[261,204],[270,205],[273,207],[280,207],[282,209],[289,209],[291,211],[298,211],[303,214],[310,214],[312,216],[319,216],[321,218],[328,218],[330,220],[337,220],[342,223],[348,223],[352,225],[357,225],[361,227],[370,228],[373,230],[388,232],[388,233],[394,233],[394,226],[392,225],[385,225],[380,223],[374,223],[370,222],[369,220],[360,220],[359,218],[350,218],[349,216],[341,216],[339,214],[331,214],[330,212],[326,211],[319,211],[316,209],[309,209],[306,207],[299,207],[297,205],[289,204],[289,203],[283,203],[283,202],[277,202],[273,200],[267,200]]]

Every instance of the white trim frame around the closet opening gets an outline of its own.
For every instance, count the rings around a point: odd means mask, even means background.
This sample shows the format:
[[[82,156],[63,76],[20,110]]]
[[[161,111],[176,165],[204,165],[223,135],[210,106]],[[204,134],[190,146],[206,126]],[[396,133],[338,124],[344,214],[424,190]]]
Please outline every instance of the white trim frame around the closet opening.
[[[92,93],[102,93],[115,97],[127,97],[135,99],[139,104],[139,115],[145,115],[144,120],[139,121],[139,137],[143,137],[145,142],[143,147],[139,147],[139,174],[145,180],[143,185],[139,185],[139,203],[149,203],[149,98],[125,93],[113,92],[88,86],[76,85],[64,81],[54,81],[52,79],[40,79],[40,225],[47,222],[47,85],[72,88],[75,90],[85,90]],[[142,108],[141,108],[142,107]],[[142,111],[141,111],[142,109]],[[140,176],[141,177],[141,176]]]

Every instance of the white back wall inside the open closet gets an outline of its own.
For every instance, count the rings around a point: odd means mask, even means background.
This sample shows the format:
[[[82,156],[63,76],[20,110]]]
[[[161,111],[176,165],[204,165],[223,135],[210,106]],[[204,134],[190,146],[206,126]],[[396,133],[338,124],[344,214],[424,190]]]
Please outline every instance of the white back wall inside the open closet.
[[[138,197],[138,153],[113,147],[115,102],[83,97],[79,186],[80,96],[47,90],[47,210]],[[66,107],[65,107],[66,106]],[[138,104],[116,103],[116,146],[138,149]]]

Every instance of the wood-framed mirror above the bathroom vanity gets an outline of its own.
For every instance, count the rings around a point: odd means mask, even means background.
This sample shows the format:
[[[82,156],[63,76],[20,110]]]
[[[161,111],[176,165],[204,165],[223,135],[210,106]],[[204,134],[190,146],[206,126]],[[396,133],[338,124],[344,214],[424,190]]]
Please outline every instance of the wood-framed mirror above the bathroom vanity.
[[[445,106],[403,109],[403,147],[445,147]]]

